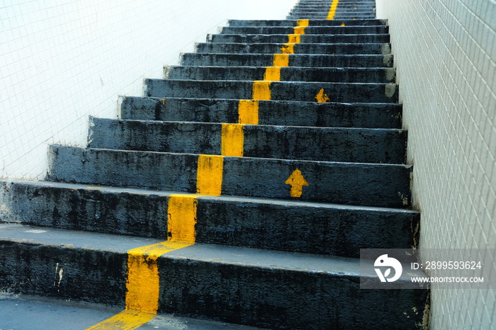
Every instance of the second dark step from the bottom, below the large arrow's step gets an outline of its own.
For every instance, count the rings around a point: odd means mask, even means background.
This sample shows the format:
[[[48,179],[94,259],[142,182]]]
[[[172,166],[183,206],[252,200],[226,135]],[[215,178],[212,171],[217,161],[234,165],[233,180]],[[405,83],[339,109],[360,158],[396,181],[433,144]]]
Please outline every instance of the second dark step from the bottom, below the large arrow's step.
[[[48,181],[0,181],[0,222],[167,239],[176,192]],[[419,213],[198,195],[196,242],[359,258],[360,249],[417,246]],[[384,228],[388,228],[387,234]]]

